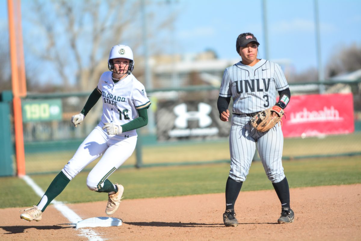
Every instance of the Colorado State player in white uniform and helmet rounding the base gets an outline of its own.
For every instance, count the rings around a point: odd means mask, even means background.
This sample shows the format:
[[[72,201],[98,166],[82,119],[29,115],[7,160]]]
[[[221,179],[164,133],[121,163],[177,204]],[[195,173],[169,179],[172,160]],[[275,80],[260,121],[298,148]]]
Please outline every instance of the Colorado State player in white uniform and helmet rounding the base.
[[[20,215],[22,219],[40,221],[42,212],[64,190],[70,180],[100,156],[101,159],[87,177],[87,186],[90,190],[108,193],[105,210],[107,215],[113,214],[118,209],[124,188],[122,185],[110,182],[108,177],[134,151],[137,140],[135,129],[147,125],[147,108],[151,102],[142,83],[131,74],[134,59],[129,46],[116,45],[110,50],[108,68],[110,71],[100,76],[82,112],[71,118],[71,122],[77,127],[101,98],[103,102],[101,121],[54,178],[38,205],[21,210],[25,211]]]

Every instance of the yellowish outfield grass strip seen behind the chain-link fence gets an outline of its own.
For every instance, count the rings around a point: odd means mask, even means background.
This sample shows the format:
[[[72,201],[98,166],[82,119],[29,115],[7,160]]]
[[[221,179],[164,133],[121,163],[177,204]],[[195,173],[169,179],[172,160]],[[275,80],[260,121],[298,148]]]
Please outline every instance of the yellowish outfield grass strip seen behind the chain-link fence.
[[[75,147],[77,148],[77,147]],[[59,172],[74,155],[75,150],[26,153],[26,173]],[[304,156],[340,155],[361,153],[361,132],[348,135],[330,135],[325,138],[285,138],[284,159]],[[257,155],[257,154],[256,154]],[[230,159],[228,140],[203,142],[177,142],[147,145],[142,148],[144,164],[214,162]],[[256,156],[257,157],[257,156]],[[91,169],[97,160],[88,165]],[[135,152],[124,166],[134,166]]]

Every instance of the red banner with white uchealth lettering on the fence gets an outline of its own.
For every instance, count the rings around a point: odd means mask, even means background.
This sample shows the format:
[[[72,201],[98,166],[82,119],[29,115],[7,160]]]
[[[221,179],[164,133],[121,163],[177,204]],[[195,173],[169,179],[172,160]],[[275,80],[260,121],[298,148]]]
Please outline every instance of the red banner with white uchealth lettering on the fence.
[[[284,137],[347,134],[355,130],[351,93],[293,95],[284,112]]]

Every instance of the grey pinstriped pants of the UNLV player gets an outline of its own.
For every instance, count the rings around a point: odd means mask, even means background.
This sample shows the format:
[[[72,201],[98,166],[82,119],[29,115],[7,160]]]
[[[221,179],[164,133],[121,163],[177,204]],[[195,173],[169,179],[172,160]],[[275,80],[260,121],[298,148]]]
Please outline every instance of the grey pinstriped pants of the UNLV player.
[[[233,115],[229,147],[231,168],[229,177],[235,181],[245,181],[252,163],[256,147],[266,175],[271,182],[283,180],[282,167],[283,134],[280,124],[268,132],[258,132],[250,124],[251,117]]]

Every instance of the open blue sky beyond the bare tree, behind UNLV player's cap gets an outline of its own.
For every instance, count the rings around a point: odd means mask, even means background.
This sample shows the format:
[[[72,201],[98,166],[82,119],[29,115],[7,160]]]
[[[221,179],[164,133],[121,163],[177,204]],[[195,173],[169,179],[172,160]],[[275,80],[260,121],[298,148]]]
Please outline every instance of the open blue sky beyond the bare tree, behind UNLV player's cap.
[[[152,0],[154,6],[160,0]],[[251,32],[265,58],[262,0],[168,0],[179,13],[172,51],[197,53],[214,50],[219,58],[237,59],[235,40]],[[318,0],[322,65],[343,47],[361,46],[361,1]],[[7,24],[7,1],[0,0],[0,25]],[[295,72],[317,68],[314,0],[266,0],[270,60],[285,60]],[[24,9],[22,9],[24,11]],[[162,17],[159,11],[158,17]],[[3,28],[2,28],[3,29]]]

